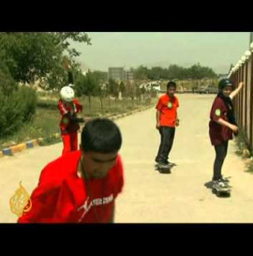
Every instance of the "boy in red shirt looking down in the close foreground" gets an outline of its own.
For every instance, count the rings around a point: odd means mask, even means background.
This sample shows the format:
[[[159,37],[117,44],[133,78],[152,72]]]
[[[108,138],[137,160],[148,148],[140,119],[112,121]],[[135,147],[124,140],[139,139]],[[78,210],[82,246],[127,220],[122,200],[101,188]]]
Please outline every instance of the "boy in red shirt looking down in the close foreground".
[[[32,208],[18,222],[113,222],[115,199],[124,185],[121,144],[120,129],[111,120],[88,121],[81,150],[43,169],[31,196]]]

